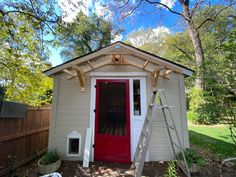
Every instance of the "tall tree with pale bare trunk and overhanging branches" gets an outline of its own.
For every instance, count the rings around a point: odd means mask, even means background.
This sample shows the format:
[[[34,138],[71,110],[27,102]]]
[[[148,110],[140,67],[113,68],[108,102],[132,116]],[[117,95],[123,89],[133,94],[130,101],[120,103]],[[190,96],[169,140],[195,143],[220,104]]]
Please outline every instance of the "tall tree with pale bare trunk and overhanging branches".
[[[214,22],[215,19],[227,8],[233,6],[235,4],[234,1],[228,1],[228,4],[226,6],[215,6],[209,14],[205,14],[204,19],[200,22],[196,22],[194,20],[195,15],[197,14],[198,10],[201,9],[203,6],[206,6],[206,4],[210,4],[210,1],[206,0],[197,0],[192,5],[190,4],[189,0],[178,0],[178,5],[182,8],[182,12],[179,12],[177,10],[173,10],[168,5],[163,3],[163,1],[157,1],[157,0],[139,0],[139,1],[117,1],[117,4],[114,6],[114,3],[111,3],[113,5],[112,7],[115,8],[116,12],[120,12],[121,15],[124,17],[127,17],[131,15],[137,8],[143,5],[155,5],[157,7],[162,7],[172,14],[178,15],[181,17],[185,22],[187,26],[188,34],[191,38],[191,42],[194,48],[195,53],[195,61],[197,66],[197,74],[195,79],[195,85],[196,88],[199,90],[204,89],[204,70],[205,70],[205,57],[204,57],[204,49],[202,47],[202,41],[199,34],[199,29],[207,22],[211,21]],[[114,11],[114,10],[113,10]]]

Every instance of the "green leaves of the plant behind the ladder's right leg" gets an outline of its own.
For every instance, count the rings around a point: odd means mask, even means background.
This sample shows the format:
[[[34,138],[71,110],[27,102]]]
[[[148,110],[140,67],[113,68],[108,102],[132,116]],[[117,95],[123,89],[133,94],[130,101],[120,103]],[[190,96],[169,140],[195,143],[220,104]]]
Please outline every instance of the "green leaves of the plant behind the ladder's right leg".
[[[205,159],[200,156],[194,149],[187,148],[184,150],[184,154],[189,168],[192,167],[193,163],[196,163],[200,168],[203,168],[205,166]],[[183,156],[181,153],[178,155],[178,157],[179,159],[183,160]]]

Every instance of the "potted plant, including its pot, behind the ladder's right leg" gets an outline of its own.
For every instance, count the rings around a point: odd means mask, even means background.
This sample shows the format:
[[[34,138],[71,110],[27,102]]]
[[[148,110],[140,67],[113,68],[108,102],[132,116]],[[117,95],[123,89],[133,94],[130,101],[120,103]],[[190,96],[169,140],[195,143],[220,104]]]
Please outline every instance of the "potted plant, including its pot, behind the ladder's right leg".
[[[184,154],[190,173],[197,173],[201,170],[201,168],[205,166],[205,159],[200,156],[194,149],[186,148],[184,150]],[[179,153],[178,157],[180,159],[180,163],[183,164],[184,162],[182,154]]]

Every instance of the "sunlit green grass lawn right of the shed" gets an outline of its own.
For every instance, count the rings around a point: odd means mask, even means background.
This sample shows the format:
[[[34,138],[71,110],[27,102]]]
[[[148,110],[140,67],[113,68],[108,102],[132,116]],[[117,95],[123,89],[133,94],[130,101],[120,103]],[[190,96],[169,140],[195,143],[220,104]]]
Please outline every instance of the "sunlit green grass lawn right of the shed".
[[[225,125],[195,125],[189,122],[190,144],[200,146],[222,157],[236,157],[236,145]]]

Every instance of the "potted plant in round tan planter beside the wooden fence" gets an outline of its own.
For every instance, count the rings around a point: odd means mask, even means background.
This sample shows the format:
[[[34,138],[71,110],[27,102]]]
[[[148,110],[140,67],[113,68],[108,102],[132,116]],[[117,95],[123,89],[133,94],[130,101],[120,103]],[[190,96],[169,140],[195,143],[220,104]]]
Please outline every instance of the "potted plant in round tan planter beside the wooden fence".
[[[40,174],[48,174],[57,171],[61,165],[61,159],[56,150],[48,150],[38,161]]]

